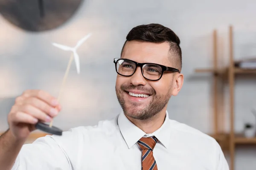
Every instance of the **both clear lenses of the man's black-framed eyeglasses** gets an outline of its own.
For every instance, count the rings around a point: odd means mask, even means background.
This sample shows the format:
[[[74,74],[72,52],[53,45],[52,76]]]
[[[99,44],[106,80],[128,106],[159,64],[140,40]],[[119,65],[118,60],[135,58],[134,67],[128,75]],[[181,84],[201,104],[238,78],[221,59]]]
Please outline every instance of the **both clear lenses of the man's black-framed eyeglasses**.
[[[116,70],[123,76],[131,76],[134,74],[136,64],[132,61],[119,59],[116,62]],[[162,75],[162,68],[155,64],[144,64],[142,66],[142,74],[146,79],[157,80]]]

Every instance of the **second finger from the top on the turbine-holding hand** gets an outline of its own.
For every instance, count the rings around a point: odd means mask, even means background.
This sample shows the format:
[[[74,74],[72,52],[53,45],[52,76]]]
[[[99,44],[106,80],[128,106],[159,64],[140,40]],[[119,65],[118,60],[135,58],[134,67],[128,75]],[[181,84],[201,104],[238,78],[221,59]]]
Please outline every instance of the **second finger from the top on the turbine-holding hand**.
[[[36,98],[36,97],[30,97],[27,100],[25,100],[24,105],[32,105],[35,108],[40,109],[44,113],[47,113],[51,117],[55,117],[59,110],[56,108],[53,108],[52,106],[48,105],[46,102]]]

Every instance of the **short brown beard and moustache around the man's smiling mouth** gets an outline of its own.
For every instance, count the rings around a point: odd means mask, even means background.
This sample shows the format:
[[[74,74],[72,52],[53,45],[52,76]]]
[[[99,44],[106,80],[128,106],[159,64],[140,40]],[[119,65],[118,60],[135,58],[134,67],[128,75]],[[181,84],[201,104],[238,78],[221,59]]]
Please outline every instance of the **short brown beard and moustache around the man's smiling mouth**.
[[[140,90],[151,94],[151,101],[144,108],[140,108],[140,103],[125,102],[124,96],[128,90]],[[148,120],[162,111],[167,105],[171,96],[171,88],[165,95],[157,95],[153,88],[145,88],[143,85],[121,85],[119,89],[116,88],[116,96],[126,116],[137,120]]]

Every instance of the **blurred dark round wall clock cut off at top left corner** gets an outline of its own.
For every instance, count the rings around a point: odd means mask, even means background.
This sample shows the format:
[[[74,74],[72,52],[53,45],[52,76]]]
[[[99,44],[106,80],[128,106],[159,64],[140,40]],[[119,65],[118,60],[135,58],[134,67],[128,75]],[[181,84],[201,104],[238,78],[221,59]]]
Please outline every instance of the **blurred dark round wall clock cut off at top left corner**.
[[[47,31],[64,24],[83,0],[0,0],[0,14],[26,31]]]

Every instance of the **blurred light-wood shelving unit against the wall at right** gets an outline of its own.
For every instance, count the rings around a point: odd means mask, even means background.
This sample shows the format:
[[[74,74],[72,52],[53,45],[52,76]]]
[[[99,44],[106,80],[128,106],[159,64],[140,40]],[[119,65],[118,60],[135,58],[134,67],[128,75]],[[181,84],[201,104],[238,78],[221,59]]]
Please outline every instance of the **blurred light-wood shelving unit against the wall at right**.
[[[213,76],[213,122],[214,122],[214,133],[210,134],[216,141],[219,142],[223,150],[227,150],[230,154],[230,170],[234,169],[235,161],[235,150],[236,144],[256,144],[256,137],[246,138],[241,134],[235,134],[234,132],[234,86],[236,75],[255,75],[256,69],[236,68],[234,57],[233,57],[233,27],[229,27],[229,64],[227,67],[219,68],[217,65],[217,31],[213,31],[213,68],[200,68],[195,69],[196,73],[212,73]],[[223,95],[221,95],[220,87],[228,80],[229,86],[229,112],[230,112],[230,132],[224,133],[224,111],[219,111],[220,106],[223,106]],[[219,103],[221,100],[222,103]],[[221,120],[221,121],[220,121]]]

